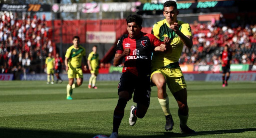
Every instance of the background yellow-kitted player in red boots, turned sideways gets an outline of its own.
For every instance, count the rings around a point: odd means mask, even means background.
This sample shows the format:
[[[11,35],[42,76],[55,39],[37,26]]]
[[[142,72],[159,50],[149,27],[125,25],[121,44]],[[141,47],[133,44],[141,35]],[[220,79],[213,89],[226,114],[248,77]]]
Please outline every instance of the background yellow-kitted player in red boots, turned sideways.
[[[88,68],[91,71],[91,77],[89,79],[88,88],[98,89],[96,84],[97,75],[99,74],[99,54],[97,53],[97,45],[92,47],[92,52],[87,59]]]

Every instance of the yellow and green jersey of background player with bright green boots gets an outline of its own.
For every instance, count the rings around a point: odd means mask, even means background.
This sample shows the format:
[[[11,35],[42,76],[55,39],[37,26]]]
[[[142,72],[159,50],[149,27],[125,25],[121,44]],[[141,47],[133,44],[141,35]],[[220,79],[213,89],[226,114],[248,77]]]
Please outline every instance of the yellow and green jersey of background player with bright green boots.
[[[81,68],[82,57],[85,56],[85,48],[79,45],[77,48],[74,45],[70,46],[65,54],[68,58],[69,68]]]

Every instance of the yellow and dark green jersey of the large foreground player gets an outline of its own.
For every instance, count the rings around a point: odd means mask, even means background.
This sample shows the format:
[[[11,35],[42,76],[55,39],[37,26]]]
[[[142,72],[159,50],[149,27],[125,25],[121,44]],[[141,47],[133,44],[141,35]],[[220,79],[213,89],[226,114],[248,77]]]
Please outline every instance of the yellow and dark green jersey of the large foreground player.
[[[192,36],[190,25],[182,21],[178,21],[179,30],[184,35]],[[161,41],[165,37],[171,38],[172,48],[168,48],[165,52],[154,53],[152,56],[152,65],[163,67],[170,63],[178,62],[183,49],[183,41],[169,28],[170,25],[166,22],[166,19],[157,22],[153,28],[152,33]],[[164,63],[163,63],[164,62]]]

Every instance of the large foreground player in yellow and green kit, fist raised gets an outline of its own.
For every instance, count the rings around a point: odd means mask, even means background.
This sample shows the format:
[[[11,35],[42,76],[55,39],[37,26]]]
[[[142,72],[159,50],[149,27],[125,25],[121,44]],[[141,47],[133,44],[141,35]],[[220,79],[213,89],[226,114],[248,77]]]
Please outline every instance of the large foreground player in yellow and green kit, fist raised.
[[[179,110],[180,131],[182,133],[195,133],[187,126],[189,117],[189,107],[187,103],[187,85],[184,80],[179,58],[185,44],[192,47],[192,33],[189,24],[177,20],[179,11],[175,1],[164,3],[165,19],[157,22],[152,28],[154,34],[161,41],[165,42],[167,51],[163,53],[153,53],[151,81],[158,88],[158,100],[165,113],[166,131],[173,129],[173,118],[169,108],[169,98],[166,93],[166,84],[175,97]],[[168,37],[168,38],[165,38]],[[168,46],[169,45],[169,46]]]

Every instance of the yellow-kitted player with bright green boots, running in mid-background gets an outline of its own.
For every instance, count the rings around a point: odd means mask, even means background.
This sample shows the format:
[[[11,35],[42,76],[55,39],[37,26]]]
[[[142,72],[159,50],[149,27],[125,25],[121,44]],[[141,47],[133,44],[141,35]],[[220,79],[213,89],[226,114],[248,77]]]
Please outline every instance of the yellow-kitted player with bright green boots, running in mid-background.
[[[73,45],[70,46],[65,54],[65,66],[67,71],[68,84],[67,90],[67,100],[72,100],[71,97],[73,89],[79,87],[83,83],[83,71],[82,71],[82,57],[84,59],[84,70],[87,70],[87,62],[85,57],[85,48],[79,45],[79,36],[74,36],[72,39]],[[74,83],[74,78],[76,78],[76,83]]]

